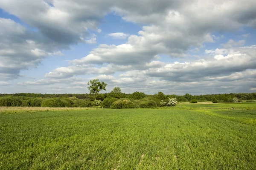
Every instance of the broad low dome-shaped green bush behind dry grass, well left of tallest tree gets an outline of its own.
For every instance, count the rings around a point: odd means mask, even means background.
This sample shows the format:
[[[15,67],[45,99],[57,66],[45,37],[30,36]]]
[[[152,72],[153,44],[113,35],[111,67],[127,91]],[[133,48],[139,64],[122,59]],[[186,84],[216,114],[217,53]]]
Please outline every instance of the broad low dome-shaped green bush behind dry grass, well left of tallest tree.
[[[64,108],[64,107],[71,107],[69,102],[64,99],[59,98],[51,98],[51,99],[44,99],[42,101],[41,107],[51,107],[51,108]]]

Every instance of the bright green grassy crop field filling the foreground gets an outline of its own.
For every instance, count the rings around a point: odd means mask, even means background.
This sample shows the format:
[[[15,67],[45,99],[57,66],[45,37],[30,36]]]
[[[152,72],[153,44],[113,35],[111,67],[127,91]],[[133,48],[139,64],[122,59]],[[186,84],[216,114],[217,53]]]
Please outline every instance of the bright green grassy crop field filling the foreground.
[[[0,169],[252,170],[255,107],[2,112]]]

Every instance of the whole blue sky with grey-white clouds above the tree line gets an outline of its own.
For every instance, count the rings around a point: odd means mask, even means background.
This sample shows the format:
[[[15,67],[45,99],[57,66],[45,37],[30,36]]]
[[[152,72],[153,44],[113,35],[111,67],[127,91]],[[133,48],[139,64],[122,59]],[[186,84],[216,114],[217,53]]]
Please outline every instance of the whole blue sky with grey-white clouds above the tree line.
[[[255,0],[0,0],[0,93],[256,92]]]

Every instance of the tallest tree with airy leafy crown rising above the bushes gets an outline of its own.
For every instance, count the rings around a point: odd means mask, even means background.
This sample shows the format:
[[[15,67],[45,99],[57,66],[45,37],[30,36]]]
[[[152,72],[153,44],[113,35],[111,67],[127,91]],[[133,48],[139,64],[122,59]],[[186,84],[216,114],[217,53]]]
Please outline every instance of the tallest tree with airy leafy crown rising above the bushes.
[[[106,90],[106,86],[108,85],[105,82],[100,82],[99,79],[90,80],[87,85],[89,85],[88,89],[90,91],[90,95],[96,99],[96,96],[99,94],[99,91]]]

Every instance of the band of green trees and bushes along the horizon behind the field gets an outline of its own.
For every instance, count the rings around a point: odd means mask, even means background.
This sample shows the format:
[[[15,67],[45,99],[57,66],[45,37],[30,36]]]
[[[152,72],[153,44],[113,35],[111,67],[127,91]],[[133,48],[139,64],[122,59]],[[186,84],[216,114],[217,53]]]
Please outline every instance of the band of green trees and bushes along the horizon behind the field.
[[[166,95],[159,91],[149,95],[136,91],[132,94],[122,93],[119,87],[113,88],[110,93],[102,93],[106,90],[107,83],[93,79],[88,82],[89,94],[34,94],[16,93],[0,94],[0,106],[29,106],[29,107],[90,107],[102,106],[106,108],[153,108],[170,103],[173,99],[177,102],[253,102],[256,93],[230,93],[207,95]],[[235,100],[234,100],[235,99]],[[114,105],[116,104],[116,105]],[[170,105],[170,104],[169,104]]]

